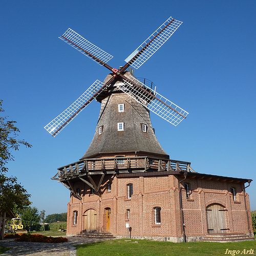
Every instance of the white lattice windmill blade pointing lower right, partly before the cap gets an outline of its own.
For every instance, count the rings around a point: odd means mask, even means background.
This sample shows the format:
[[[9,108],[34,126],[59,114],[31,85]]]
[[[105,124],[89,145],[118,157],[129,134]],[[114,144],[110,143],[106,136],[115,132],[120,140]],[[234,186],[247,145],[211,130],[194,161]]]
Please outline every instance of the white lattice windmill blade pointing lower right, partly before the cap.
[[[178,105],[133,77],[120,83],[119,89],[174,126],[188,115],[188,112]]]

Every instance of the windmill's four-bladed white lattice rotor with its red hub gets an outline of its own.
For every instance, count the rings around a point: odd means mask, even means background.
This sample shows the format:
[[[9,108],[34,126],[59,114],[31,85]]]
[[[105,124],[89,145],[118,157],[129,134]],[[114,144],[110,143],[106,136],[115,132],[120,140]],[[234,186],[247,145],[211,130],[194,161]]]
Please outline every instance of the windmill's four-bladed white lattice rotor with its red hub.
[[[119,69],[112,68],[107,62],[113,58],[112,55],[101,50],[87,39],[68,29],[59,38],[67,44],[91,58],[99,65],[104,66],[112,72],[112,77],[104,83],[96,80],[77,100],[75,100],[65,111],[54,118],[45,126],[45,129],[55,137],[63,128],[67,126],[94,98],[109,92],[113,83],[119,81],[119,89],[145,106],[167,122],[178,125],[186,118],[188,112],[180,108],[177,104],[168,100],[150,87],[133,76],[125,76],[124,72],[130,66],[138,69],[149,59],[182,24],[177,19],[169,17],[153,34],[151,34],[142,44],[132,52],[126,59],[126,64]]]

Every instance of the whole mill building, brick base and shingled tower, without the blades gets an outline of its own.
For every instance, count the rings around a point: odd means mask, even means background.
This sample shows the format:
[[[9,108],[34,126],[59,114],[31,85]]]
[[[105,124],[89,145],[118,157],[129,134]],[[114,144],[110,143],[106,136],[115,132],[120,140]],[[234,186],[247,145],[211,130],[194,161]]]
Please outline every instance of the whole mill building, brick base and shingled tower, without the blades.
[[[101,109],[87,152],[53,177],[71,190],[68,235],[127,237],[130,226],[132,238],[253,239],[245,193],[251,180],[196,173],[189,162],[170,159],[149,112],[120,91],[119,82],[97,100]]]

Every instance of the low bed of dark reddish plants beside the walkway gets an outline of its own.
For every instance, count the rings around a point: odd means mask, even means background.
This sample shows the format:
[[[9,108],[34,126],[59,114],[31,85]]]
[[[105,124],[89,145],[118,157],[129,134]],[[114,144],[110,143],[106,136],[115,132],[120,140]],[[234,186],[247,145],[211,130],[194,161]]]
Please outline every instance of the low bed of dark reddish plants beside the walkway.
[[[15,239],[17,242],[34,242],[34,243],[63,243],[67,242],[67,238],[63,237],[46,237],[41,234],[19,234],[19,237]]]

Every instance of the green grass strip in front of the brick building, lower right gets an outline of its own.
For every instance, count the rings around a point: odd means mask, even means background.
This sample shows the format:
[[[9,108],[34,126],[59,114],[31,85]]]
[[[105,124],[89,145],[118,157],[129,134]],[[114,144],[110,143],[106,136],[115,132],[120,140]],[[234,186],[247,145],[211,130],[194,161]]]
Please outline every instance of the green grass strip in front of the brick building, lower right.
[[[149,240],[108,240],[93,244],[77,245],[77,255],[223,255],[229,250],[256,250],[255,241],[236,243],[191,242],[171,243]],[[228,254],[227,254],[228,255]],[[231,255],[231,254],[229,254]],[[235,254],[238,255],[238,254]]]

